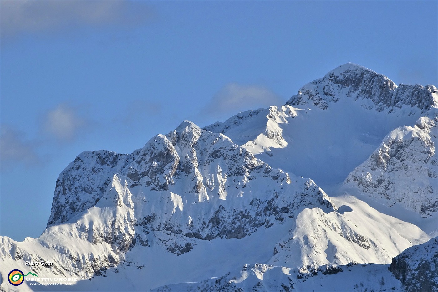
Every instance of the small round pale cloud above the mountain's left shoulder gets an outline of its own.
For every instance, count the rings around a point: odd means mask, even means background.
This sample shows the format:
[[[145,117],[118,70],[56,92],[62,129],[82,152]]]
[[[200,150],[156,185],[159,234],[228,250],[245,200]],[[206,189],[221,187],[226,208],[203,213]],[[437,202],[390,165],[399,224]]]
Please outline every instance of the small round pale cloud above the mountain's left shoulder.
[[[50,110],[43,121],[45,132],[60,141],[73,140],[85,125],[87,120],[79,115],[78,110],[66,104]]]

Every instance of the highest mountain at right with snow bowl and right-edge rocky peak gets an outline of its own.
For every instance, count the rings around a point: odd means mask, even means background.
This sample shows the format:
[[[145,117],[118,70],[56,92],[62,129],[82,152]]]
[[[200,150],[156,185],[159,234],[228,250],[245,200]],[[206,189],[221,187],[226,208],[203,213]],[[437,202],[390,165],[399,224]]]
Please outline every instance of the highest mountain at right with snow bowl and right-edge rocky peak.
[[[437,113],[435,86],[397,86],[347,63],[304,85],[284,106],[239,113],[205,129],[323,189],[346,180],[388,206],[427,217],[438,206]]]

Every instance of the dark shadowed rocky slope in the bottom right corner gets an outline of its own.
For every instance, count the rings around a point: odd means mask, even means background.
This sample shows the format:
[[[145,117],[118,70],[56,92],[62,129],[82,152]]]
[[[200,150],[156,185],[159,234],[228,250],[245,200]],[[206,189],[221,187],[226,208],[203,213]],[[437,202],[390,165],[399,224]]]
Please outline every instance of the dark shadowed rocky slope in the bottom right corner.
[[[396,256],[389,267],[407,292],[438,291],[438,237]]]

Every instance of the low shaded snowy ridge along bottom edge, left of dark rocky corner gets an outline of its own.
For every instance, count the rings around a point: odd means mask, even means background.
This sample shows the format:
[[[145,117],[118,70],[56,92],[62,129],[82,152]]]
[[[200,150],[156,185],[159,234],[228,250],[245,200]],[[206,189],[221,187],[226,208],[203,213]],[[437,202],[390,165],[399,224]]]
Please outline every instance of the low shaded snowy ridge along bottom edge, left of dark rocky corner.
[[[321,266],[317,269],[290,269],[264,264],[245,264],[240,271],[229,272],[221,277],[195,283],[165,285],[152,291],[403,291],[403,286],[388,271],[388,266],[350,264]]]

